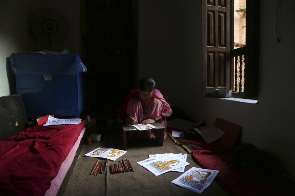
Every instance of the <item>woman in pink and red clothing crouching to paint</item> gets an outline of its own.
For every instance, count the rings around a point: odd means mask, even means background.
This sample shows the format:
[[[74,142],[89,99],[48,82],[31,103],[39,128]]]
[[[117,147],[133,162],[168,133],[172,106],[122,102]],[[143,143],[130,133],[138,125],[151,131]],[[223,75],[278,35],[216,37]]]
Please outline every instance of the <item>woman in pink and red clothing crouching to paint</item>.
[[[143,77],[139,82],[139,89],[128,93],[119,114],[120,118],[131,125],[159,122],[166,128],[166,118],[172,114],[172,110],[155,86],[151,77]],[[156,138],[154,130],[132,132],[132,137]]]

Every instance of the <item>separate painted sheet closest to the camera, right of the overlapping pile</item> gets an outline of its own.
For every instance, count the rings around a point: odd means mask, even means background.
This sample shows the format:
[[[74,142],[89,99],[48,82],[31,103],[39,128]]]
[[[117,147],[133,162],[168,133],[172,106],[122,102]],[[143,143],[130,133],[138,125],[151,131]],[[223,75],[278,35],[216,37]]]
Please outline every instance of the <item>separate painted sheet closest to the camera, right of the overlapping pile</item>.
[[[191,168],[171,183],[201,194],[214,180],[219,171]]]

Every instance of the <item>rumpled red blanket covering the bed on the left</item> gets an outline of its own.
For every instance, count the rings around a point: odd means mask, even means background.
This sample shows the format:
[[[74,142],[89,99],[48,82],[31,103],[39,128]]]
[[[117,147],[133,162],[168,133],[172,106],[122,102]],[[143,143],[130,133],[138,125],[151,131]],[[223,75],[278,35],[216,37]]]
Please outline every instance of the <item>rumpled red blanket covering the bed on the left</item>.
[[[85,122],[29,127],[0,141],[0,195],[44,195]]]

